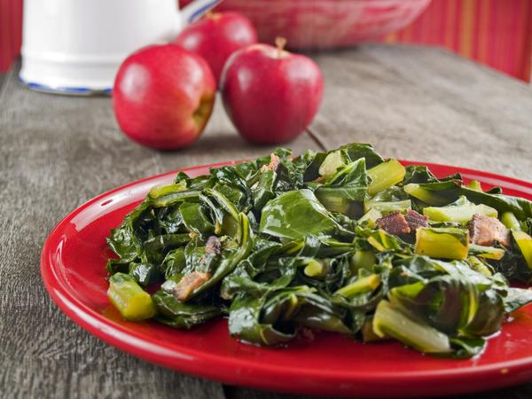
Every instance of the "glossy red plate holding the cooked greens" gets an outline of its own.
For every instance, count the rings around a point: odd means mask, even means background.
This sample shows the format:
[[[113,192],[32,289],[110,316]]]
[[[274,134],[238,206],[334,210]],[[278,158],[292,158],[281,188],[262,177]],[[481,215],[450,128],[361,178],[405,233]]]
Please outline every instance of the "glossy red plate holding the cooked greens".
[[[412,164],[417,162],[404,162]],[[220,165],[212,165],[220,166]],[[211,167],[212,167],[211,166]],[[429,164],[436,176],[461,172],[484,188],[532,200],[532,184],[464,168]],[[208,166],[185,170],[191,176]],[[175,172],[124,185],[90,200],[59,223],[43,248],[41,272],[51,298],[98,338],[150,362],[227,384],[310,395],[451,395],[532,379],[532,306],[489,340],[477,359],[420,355],[398,342],[364,344],[319,333],[287,348],[257,348],[232,340],[225,320],[179,331],[153,322],[129,323],[106,297],[106,237],[154,184]]]

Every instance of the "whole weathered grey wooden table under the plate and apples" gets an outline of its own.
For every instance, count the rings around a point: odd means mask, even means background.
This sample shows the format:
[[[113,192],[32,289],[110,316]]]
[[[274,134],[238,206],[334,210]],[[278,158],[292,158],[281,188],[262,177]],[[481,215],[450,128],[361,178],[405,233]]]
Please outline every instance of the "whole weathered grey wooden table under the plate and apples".
[[[532,90],[439,49],[363,46],[315,56],[325,101],[291,144],[371,142],[387,156],[532,180]],[[293,397],[184,376],[95,339],[48,297],[39,254],[53,226],[100,192],[145,176],[268,153],[246,144],[221,104],[192,147],[157,153],[117,128],[109,98],[20,86],[0,92],[0,389],[13,397]],[[528,398],[532,382],[467,397]]]

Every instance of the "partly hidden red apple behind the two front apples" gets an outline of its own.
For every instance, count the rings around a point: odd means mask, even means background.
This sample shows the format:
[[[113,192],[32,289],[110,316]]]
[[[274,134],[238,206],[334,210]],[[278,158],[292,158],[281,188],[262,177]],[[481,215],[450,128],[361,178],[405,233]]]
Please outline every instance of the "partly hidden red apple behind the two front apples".
[[[225,61],[234,51],[257,43],[257,32],[251,21],[238,12],[207,13],[185,27],[175,43],[206,59],[219,82]]]

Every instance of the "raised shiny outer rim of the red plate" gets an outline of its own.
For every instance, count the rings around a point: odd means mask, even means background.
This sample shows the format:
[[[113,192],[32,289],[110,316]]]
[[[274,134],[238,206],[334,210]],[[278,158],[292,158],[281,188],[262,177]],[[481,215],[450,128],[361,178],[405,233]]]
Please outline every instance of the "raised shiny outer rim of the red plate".
[[[306,377],[309,377],[310,379],[327,379],[329,383],[340,383],[341,381],[349,379],[350,382],[353,383],[357,381],[361,382],[364,380],[364,382],[374,384],[377,382],[381,382],[383,379],[386,378],[387,382],[393,385],[404,384],[408,383],[409,381],[419,379],[426,379],[427,381],[432,381],[434,383],[442,383],[444,381],[450,380],[456,381],[457,379],[466,382],[477,374],[479,375],[479,378],[500,378],[501,373],[504,373],[502,372],[504,369],[512,369],[512,373],[514,375],[519,374],[525,368],[528,368],[528,370],[526,370],[528,372],[532,371],[532,356],[527,356],[520,359],[505,360],[497,362],[495,364],[475,365],[474,367],[469,367],[467,369],[445,369],[443,366],[442,370],[419,370],[408,372],[364,372],[357,370],[356,378],[354,378],[352,371],[338,372],[329,371],[326,369],[300,369],[284,366],[281,364],[276,365],[276,371],[272,372],[271,365],[268,365],[268,363],[260,364],[239,358],[228,359],[227,356],[213,355],[211,353],[207,353],[205,351],[201,351],[194,348],[175,348],[174,345],[171,345],[171,348],[168,348],[168,345],[167,348],[163,348],[162,346],[160,346],[159,343],[157,343],[157,340],[153,340],[151,337],[146,337],[140,332],[128,330],[124,326],[114,323],[112,320],[109,320],[108,318],[99,314],[97,311],[90,309],[89,306],[75,298],[74,295],[70,293],[69,290],[66,288],[66,286],[62,284],[61,279],[56,273],[57,270],[55,270],[53,267],[53,261],[50,258],[50,255],[52,254],[51,246],[53,241],[57,240],[56,236],[58,235],[59,231],[61,231],[62,228],[66,225],[66,223],[70,222],[75,215],[82,213],[83,210],[85,210],[87,207],[92,206],[95,203],[98,203],[98,201],[110,197],[116,192],[124,191],[129,187],[137,186],[139,184],[145,184],[149,181],[159,180],[167,176],[176,176],[178,172],[186,173],[188,171],[198,169],[217,168],[226,165],[234,165],[241,161],[243,160],[217,162],[213,164],[199,165],[191,168],[176,169],[173,171],[160,173],[154,176],[144,177],[136,181],[130,182],[129,184],[123,184],[121,186],[113,188],[112,190],[98,194],[96,197],[82,203],[82,205],[80,205],[79,207],[76,207],[68,215],[62,218],[59,223],[57,223],[57,225],[49,233],[43,245],[43,250],[41,253],[40,271],[41,276],[43,278],[43,285],[45,286],[46,291],[51,296],[51,299],[58,305],[59,309],[61,309],[67,317],[71,318],[74,321],[74,323],[82,326],[84,330],[95,335],[96,337],[98,337],[98,339],[106,341],[106,343],[112,345],[115,348],[124,350],[133,356],[141,357],[149,362],[152,362],[153,364],[160,364],[179,372],[185,372],[200,377],[206,377],[208,379],[215,379],[220,382],[246,387],[259,387],[292,393],[314,392],[312,390],[305,390],[298,387],[290,389],[287,387],[283,387],[286,386],[286,384],[279,385],[278,382],[276,383],[276,386],[272,386],[272,380],[270,380],[270,378],[278,376],[279,372],[282,372],[285,378],[301,377],[301,372],[305,372]],[[452,168],[457,169],[459,173],[462,173],[464,175],[479,175],[481,177],[497,179],[505,183],[518,185],[520,186],[521,191],[523,188],[526,187],[528,188],[528,190],[530,190],[530,195],[532,195],[532,183],[514,177],[502,176],[491,172],[481,171],[478,169],[462,168],[459,166],[446,165],[434,162],[414,160],[400,161],[404,165],[426,165],[429,168]],[[181,361],[179,366],[176,366],[176,364],[173,363],[177,359]],[[222,367],[207,367],[205,369],[203,368],[205,365],[211,364],[211,362],[213,361],[215,361],[216,364],[222,364]],[[232,375],[231,367],[228,367],[230,365],[234,367],[235,364],[238,364],[240,367],[246,367],[251,365],[251,367],[254,369],[254,372],[250,373],[249,375],[246,375],[246,377],[242,377],[242,375],[240,375],[239,377],[235,377],[234,375]],[[215,369],[218,369],[218,371],[215,372]],[[257,373],[262,374],[262,379],[264,376],[269,376],[270,378],[266,379],[266,383],[261,383],[260,380],[258,380],[256,377],[252,377],[251,375]],[[246,379],[246,382],[243,382],[243,378]],[[512,383],[514,383],[514,379],[522,380],[522,378],[509,378],[507,383],[497,382],[495,386],[504,387],[512,385]],[[478,391],[480,389],[482,388],[472,387],[469,392]],[[328,395],[352,395],[354,392],[357,391],[351,389],[342,394],[338,390],[332,390],[331,393]],[[456,393],[465,392],[468,391],[465,389],[459,389],[456,391]]]

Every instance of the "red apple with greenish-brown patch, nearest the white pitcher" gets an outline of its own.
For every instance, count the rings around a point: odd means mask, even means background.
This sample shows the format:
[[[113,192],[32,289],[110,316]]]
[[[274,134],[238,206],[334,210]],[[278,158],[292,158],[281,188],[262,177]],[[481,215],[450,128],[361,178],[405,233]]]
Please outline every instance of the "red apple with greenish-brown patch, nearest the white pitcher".
[[[175,150],[199,136],[213,110],[216,82],[207,62],[176,44],[145,47],[120,66],[114,114],[142,145]]]

